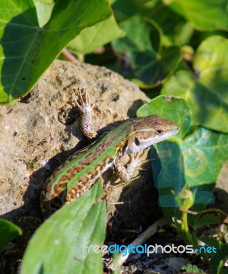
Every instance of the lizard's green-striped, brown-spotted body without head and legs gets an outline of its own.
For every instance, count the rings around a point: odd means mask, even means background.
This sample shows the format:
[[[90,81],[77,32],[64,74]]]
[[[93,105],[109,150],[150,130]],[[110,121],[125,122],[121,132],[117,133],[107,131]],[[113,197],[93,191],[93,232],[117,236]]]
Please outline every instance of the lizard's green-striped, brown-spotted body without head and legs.
[[[91,188],[98,177],[122,155],[128,134],[133,134],[133,130],[133,122],[126,120],[63,162],[43,186],[41,209],[44,216],[49,216]]]

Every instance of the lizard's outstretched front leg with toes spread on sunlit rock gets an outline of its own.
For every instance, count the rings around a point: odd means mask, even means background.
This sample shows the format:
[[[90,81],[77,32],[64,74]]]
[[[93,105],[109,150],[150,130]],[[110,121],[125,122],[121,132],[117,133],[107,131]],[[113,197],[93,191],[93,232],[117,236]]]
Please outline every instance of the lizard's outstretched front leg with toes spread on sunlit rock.
[[[93,130],[91,112],[93,105],[89,99],[87,88],[78,89],[78,101],[75,102],[80,112],[80,129],[84,136],[89,140],[94,140],[98,137],[97,132]]]

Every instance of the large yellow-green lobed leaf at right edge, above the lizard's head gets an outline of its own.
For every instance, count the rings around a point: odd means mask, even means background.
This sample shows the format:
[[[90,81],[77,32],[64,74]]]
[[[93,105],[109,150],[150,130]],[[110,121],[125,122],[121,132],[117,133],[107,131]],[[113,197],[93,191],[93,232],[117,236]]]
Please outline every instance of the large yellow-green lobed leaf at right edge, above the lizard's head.
[[[161,94],[183,97],[192,111],[192,125],[228,133],[228,40],[211,36],[196,51],[194,70],[179,71],[163,85]]]

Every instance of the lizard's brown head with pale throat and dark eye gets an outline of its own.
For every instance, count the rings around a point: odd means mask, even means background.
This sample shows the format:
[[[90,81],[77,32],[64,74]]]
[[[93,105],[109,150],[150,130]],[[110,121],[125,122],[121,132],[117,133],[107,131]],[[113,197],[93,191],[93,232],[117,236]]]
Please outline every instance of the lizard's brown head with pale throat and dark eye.
[[[137,153],[179,132],[179,126],[176,123],[158,115],[135,118],[131,121],[134,130],[129,138],[127,154]]]

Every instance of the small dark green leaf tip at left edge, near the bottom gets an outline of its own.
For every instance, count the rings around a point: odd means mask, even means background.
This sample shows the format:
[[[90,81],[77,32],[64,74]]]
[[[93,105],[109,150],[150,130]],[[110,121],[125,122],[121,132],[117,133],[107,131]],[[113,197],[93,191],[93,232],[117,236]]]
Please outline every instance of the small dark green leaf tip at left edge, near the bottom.
[[[0,219],[0,252],[8,242],[11,242],[16,236],[22,235],[20,227],[10,221]]]

